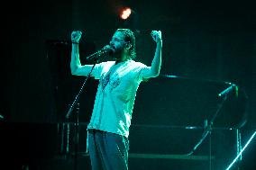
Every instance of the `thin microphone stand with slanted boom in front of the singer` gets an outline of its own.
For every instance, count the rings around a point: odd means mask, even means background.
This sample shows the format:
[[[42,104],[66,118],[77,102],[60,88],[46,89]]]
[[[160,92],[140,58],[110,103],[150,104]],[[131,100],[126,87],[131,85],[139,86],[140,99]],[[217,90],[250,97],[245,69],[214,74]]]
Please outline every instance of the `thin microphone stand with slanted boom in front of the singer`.
[[[97,62],[97,60],[96,60],[96,62]],[[92,69],[90,70],[90,72],[89,72],[86,80],[84,81],[83,85],[80,87],[80,90],[79,90],[78,94],[76,95],[74,102],[70,105],[69,112],[66,115],[67,119],[69,119],[71,112],[74,110],[74,106],[78,103],[78,99],[80,97],[80,94],[82,94],[82,92],[84,91],[85,85],[87,83],[87,79],[91,75],[94,67],[96,66],[96,62],[93,65]],[[78,165],[78,130],[79,130],[79,128],[78,128],[78,112],[77,112],[77,119],[76,119],[76,123],[75,123],[75,163],[74,163],[74,169],[75,170],[77,170],[77,168],[78,168],[78,166],[77,166]]]

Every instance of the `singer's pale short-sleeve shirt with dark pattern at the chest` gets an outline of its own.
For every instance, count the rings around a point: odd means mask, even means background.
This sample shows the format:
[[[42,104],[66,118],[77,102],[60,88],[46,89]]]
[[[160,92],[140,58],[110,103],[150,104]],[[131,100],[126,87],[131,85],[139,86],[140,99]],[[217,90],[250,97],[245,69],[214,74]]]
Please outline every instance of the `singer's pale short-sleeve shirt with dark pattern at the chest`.
[[[96,64],[92,76],[99,79],[96,100],[87,129],[103,130],[128,138],[133,104],[146,65],[133,60],[114,65]]]

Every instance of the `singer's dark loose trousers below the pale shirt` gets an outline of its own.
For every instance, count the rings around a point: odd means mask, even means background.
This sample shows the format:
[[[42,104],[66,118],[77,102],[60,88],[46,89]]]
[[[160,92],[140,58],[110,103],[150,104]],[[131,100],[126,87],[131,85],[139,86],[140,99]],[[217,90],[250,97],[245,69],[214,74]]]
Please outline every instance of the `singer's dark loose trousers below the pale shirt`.
[[[129,140],[102,130],[88,130],[92,170],[128,170]]]

